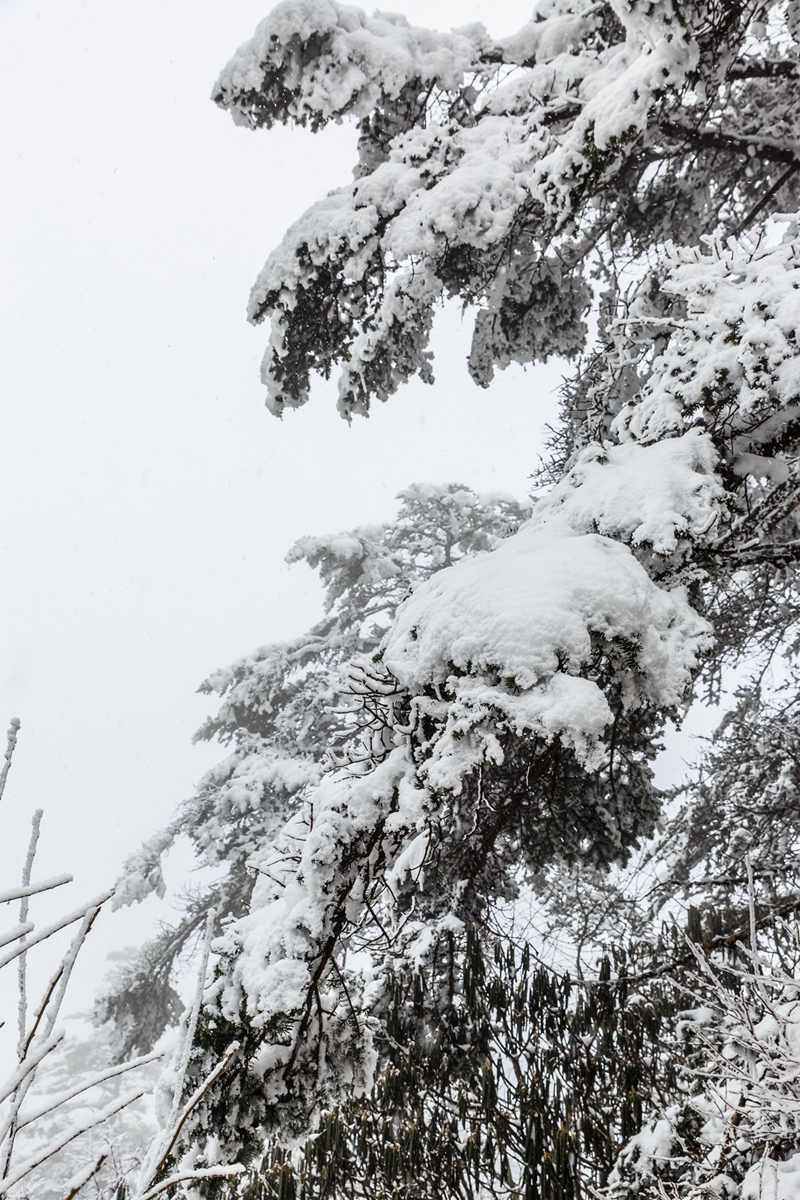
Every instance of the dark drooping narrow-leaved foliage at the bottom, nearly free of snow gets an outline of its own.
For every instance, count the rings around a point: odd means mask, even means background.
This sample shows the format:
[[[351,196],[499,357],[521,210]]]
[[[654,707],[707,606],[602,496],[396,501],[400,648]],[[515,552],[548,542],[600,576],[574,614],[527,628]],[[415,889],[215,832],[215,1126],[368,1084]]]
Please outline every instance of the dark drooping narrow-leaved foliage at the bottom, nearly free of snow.
[[[618,949],[576,984],[529,947],[444,935],[395,977],[371,1094],[327,1112],[305,1146],[267,1142],[242,1200],[578,1200],[603,1184],[663,1085],[670,1001]],[[431,992],[435,991],[432,1002]],[[435,1013],[435,1026],[431,1014]],[[224,1194],[224,1193],[223,1193]]]

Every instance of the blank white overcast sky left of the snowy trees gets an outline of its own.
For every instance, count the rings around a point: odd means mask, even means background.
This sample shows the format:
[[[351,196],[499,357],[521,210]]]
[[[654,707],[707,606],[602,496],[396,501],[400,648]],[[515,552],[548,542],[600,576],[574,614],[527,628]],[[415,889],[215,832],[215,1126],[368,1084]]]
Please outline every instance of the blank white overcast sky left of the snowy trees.
[[[0,0],[0,724],[23,722],[0,878],[41,805],[35,875],[72,870],[71,905],[222,756],[191,745],[211,708],[199,682],[319,616],[291,542],[391,516],[411,481],[522,496],[554,419],[555,370],[471,384],[456,310],[435,388],[353,427],[333,383],[269,416],[247,294],[290,221],[349,176],[355,131],[249,133],[210,102],[267,8]],[[501,35],[529,6],[434,11]],[[96,971],[143,914],[104,920]]]

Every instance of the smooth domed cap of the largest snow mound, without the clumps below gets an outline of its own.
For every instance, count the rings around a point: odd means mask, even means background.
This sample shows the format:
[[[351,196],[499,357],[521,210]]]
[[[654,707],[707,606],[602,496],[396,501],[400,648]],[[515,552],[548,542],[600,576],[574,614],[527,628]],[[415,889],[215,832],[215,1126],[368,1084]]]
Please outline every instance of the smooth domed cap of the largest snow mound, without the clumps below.
[[[675,703],[708,626],[609,538],[529,523],[489,554],[422,583],[401,606],[384,662],[413,692],[476,671],[533,688],[577,674],[591,635],[637,646],[640,686]]]

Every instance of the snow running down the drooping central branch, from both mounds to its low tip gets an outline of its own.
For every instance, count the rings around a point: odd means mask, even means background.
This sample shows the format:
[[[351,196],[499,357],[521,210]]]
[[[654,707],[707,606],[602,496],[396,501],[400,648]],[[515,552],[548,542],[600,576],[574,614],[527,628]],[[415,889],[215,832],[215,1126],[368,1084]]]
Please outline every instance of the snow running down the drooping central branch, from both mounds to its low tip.
[[[225,1016],[245,1003],[260,1027],[281,1014],[302,1020],[337,914],[347,913],[348,928],[360,920],[363,864],[378,856],[387,878],[399,880],[413,859],[421,872],[428,822],[480,762],[501,761],[504,728],[560,738],[591,770],[612,721],[609,678],[628,707],[681,701],[709,644],[706,622],[682,588],[654,582],[628,546],[582,532],[578,498],[585,487],[618,535],[646,532],[672,550],[678,530],[697,533],[714,516],[711,463],[694,431],[667,445],[607,448],[604,463],[584,455],[518,533],[417,586],[385,638],[383,665],[411,697],[411,725],[427,718],[437,732],[422,758],[398,726],[383,761],[329,773],[254,862],[252,912],[217,943],[230,962],[213,1001]],[[369,972],[347,978],[350,998],[371,986]],[[326,1010],[330,1046],[347,1018],[335,995]],[[362,1038],[348,1069],[368,1086],[366,1027]],[[259,1070],[279,1075],[288,1051],[265,1054]]]

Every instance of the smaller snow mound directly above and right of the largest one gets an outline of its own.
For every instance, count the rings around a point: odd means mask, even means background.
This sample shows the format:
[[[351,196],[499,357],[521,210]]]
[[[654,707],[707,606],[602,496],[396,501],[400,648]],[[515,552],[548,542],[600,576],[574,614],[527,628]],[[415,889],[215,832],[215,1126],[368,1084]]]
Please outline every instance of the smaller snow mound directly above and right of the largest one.
[[[723,498],[711,438],[690,430],[642,446],[591,445],[536,505],[533,523],[561,514],[576,533],[601,533],[672,554],[714,524]]]

